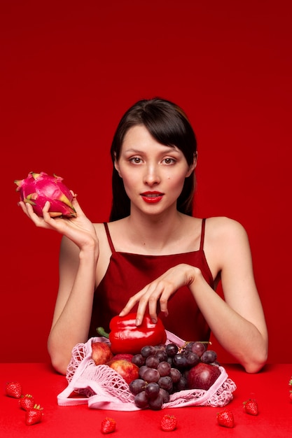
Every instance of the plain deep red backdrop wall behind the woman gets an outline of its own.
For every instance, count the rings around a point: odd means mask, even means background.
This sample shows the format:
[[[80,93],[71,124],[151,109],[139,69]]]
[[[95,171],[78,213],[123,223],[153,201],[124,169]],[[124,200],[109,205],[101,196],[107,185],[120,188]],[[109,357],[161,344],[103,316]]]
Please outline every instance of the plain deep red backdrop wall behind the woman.
[[[269,361],[292,362],[290,4],[1,1],[1,361],[48,359],[58,283],[60,236],[22,215],[14,179],[63,176],[107,220],[113,131],[159,95],[197,134],[195,213],[246,228]]]

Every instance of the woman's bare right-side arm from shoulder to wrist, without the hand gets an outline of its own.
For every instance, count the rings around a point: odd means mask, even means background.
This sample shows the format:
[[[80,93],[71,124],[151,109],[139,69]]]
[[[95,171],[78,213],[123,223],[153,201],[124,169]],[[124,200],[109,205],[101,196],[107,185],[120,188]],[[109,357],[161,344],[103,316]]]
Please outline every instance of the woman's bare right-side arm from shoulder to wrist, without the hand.
[[[221,273],[224,300],[216,295],[208,306],[208,299],[204,300],[202,290],[198,288],[195,299],[202,313],[207,314],[214,336],[226,351],[247,372],[258,372],[267,360],[268,336],[253,276],[249,239],[239,222],[228,218],[214,220],[216,227],[213,228],[216,232],[214,234],[210,231],[211,241],[207,239],[205,251],[208,260],[211,257],[211,247],[217,248],[215,258]]]

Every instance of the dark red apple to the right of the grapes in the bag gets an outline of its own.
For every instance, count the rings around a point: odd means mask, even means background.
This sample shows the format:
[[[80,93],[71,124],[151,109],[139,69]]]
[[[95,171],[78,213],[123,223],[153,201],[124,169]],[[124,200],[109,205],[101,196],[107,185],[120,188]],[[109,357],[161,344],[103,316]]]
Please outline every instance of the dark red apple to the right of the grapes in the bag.
[[[188,372],[188,388],[208,390],[220,374],[221,371],[216,365],[199,362]]]

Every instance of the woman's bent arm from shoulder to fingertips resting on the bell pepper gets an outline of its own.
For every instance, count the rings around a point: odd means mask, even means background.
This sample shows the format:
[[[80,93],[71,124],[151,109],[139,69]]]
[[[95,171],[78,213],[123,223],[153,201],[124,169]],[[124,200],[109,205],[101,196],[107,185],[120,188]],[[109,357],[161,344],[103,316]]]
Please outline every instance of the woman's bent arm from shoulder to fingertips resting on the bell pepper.
[[[249,241],[238,222],[223,218],[219,225],[215,233],[209,229],[214,237],[208,237],[206,251],[216,273],[221,272],[224,299],[207,284],[200,269],[180,264],[130,298],[121,314],[128,313],[139,302],[137,324],[147,306],[155,320],[157,302],[161,311],[167,313],[169,297],[188,285],[220,344],[246,372],[258,372],[267,360],[267,328],[253,278]],[[212,255],[208,257],[208,253]]]

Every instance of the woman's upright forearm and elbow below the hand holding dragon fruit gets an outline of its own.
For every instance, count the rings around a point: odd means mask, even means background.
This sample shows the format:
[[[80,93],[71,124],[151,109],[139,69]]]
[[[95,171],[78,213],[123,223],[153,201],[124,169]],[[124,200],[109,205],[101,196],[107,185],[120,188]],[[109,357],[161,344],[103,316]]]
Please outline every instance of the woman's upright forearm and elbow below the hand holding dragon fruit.
[[[63,237],[60,249],[60,283],[48,352],[53,367],[66,374],[72,348],[88,339],[95,291],[95,246],[79,248]]]

